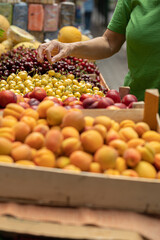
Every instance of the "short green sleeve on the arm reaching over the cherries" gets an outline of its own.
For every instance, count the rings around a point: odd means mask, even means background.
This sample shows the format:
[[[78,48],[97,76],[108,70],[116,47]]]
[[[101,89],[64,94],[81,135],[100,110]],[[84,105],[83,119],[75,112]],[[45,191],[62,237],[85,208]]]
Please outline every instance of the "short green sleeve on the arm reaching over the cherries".
[[[120,34],[126,33],[126,26],[130,19],[132,0],[118,0],[108,29]]]

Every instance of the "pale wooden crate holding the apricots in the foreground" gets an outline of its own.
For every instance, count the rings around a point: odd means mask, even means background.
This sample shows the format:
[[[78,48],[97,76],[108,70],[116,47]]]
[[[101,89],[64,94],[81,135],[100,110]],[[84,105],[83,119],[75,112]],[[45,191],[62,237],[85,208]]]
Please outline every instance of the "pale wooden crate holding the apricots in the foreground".
[[[152,109],[148,109],[148,101],[154,103]],[[90,116],[103,114],[118,121],[145,120],[152,129],[159,130],[157,103],[158,91],[147,90],[144,109],[94,109],[84,110],[84,113]],[[1,201],[160,214],[159,188],[158,179],[133,179],[89,172],[77,174],[61,169],[0,164]]]

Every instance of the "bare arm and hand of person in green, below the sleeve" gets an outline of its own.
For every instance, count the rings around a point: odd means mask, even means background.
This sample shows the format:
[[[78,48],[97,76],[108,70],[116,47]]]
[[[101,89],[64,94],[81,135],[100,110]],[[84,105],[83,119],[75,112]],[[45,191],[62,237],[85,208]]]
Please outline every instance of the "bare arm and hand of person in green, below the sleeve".
[[[118,52],[125,42],[125,35],[113,32],[109,29],[102,37],[97,37],[89,41],[75,43],[60,43],[51,41],[41,44],[37,50],[38,60],[43,61],[44,54],[47,55],[49,62],[56,62],[62,57],[75,56],[90,60],[108,58]]]

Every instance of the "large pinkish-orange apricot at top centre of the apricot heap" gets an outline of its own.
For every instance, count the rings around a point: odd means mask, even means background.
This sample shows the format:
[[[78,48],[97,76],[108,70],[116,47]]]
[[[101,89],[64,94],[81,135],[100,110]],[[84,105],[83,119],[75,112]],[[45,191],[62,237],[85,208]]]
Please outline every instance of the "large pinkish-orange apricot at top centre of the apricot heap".
[[[68,111],[68,113],[64,116],[62,120],[62,128],[64,127],[74,127],[79,132],[81,132],[85,127],[85,120],[83,113],[81,111]]]

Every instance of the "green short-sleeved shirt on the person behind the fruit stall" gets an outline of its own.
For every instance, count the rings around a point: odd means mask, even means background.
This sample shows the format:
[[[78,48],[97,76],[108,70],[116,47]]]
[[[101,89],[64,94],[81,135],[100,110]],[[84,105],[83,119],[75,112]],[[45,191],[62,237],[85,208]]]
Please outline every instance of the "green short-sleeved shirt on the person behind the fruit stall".
[[[126,36],[124,85],[138,100],[145,89],[160,90],[160,0],[118,0],[108,29]]]

